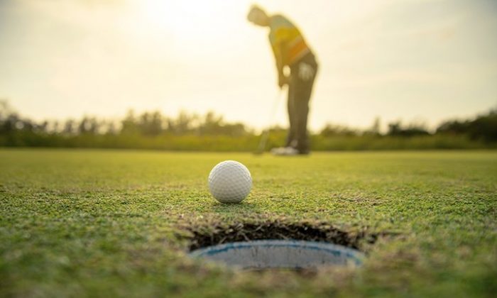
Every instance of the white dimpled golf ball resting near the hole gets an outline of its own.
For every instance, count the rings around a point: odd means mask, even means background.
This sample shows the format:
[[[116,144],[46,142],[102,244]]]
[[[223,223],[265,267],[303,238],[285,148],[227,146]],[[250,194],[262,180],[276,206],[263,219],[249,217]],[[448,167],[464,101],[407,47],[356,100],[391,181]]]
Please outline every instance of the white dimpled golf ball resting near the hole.
[[[251,188],[249,169],[240,162],[219,162],[209,174],[209,190],[219,202],[239,203],[249,195]]]

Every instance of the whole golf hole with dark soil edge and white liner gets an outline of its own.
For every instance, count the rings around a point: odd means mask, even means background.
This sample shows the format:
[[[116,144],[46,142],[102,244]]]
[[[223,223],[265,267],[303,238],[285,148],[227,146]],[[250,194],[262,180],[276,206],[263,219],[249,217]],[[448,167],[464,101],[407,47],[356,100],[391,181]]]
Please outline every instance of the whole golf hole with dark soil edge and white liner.
[[[241,270],[316,270],[359,267],[360,243],[378,235],[347,233],[327,223],[262,221],[224,226],[221,222],[189,228],[190,256]]]

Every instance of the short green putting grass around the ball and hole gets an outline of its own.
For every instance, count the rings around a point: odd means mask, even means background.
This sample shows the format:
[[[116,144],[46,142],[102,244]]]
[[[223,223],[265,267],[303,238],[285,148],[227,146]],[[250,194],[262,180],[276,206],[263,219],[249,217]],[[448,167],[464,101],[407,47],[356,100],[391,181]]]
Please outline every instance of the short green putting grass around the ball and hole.
[[[210,197],[244,162],[242,204]],[[246,153],[0,150],[0,296],[492,297],[497,152]],[[185,226],[319,221],[394,236],[360,270],[231,272],[195,262]]]

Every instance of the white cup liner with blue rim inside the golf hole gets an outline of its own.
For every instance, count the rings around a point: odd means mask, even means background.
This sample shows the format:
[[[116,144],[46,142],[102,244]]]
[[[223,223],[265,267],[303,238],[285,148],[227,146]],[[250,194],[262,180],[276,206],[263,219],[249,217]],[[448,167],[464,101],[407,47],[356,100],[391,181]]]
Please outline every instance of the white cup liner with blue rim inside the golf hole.
[[[225,243],[194,250],[190,255],[243,270],[358,267],[364,258],[359,250],[343,245],[296,240]]]

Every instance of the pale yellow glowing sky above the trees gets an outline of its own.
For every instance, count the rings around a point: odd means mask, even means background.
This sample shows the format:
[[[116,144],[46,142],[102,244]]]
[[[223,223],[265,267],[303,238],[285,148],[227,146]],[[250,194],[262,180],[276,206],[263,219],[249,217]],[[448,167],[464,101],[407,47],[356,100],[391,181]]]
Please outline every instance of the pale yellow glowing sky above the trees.
[[[261,128],[278,87],[252,2],[0,0],[0,99],[35,119],[213,110]],[[312,129],[376,116],[433,127],[497,106],[494,0],[257,3],[317,54]]]

